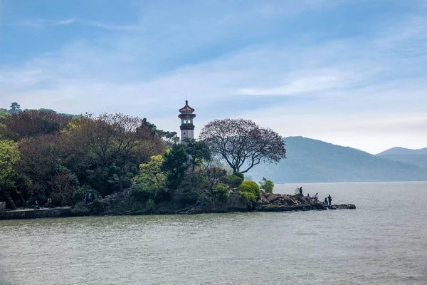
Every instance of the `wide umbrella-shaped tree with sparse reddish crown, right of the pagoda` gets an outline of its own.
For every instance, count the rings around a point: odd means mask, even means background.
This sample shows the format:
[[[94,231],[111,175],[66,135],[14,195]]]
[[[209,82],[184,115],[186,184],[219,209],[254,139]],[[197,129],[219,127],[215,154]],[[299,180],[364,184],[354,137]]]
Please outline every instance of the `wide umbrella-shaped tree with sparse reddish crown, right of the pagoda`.
[[[260,128],[252,120],[213,120],[201,130],[200,139],[206,142],[212,155],[226,160],[233,174],[248,172],[260,162],[279,162],[286,157],[285,142],[280,135],[269,128]]]

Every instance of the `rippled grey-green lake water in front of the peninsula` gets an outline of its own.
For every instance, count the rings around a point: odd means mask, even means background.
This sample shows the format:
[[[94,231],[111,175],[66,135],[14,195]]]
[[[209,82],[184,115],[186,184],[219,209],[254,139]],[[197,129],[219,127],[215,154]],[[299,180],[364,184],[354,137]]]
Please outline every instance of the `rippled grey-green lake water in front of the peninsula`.
[[[0,284],[427,284],[427,182],[302,186],[357,209],[0,221]]]

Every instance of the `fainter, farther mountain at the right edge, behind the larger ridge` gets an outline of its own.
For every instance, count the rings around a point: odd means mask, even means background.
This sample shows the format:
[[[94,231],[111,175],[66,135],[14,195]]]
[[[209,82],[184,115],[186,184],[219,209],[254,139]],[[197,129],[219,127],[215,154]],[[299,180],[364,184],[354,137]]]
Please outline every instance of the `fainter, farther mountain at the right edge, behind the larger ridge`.
[[[404,147],[393,147],[389,150],[379,153],[377,156],[388,160],[404,162],[412,165],[418,165],[427,170],[427,147],[421,150],[410,150]]]

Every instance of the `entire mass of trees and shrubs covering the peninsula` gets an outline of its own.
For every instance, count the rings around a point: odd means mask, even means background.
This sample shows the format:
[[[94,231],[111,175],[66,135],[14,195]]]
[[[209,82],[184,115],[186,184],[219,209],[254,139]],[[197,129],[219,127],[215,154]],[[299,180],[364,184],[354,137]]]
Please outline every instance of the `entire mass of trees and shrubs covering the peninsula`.
[[[180,141],[122,113],[0,113],[0,217],[326,209],[246,175],[286,156],[280,135],[252,120],[213,120]]]

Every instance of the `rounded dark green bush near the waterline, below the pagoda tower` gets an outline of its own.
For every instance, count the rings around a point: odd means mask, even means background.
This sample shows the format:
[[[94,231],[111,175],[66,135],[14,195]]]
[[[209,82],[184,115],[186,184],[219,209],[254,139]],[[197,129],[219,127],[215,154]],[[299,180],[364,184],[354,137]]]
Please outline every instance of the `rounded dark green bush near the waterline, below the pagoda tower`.
[[[184,204],[194,204],[197,200],[206,199],[209,181],[203,175],[189,173],[184,177],[174,193],[174,199]]]

